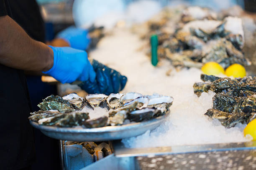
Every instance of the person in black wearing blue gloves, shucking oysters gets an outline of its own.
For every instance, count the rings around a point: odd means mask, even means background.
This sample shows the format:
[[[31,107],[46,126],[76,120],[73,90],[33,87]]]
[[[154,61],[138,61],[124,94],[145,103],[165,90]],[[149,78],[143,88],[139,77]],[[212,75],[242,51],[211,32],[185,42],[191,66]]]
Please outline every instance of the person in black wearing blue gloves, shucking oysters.
[[[35,0],[0,0],[0,30],[0,169],[30,169],[35,150],[24,70],[43,72],[62,83],[80,80],[87,85],[84,88],[97,92],[110,92],[114,86],[121,90],[127,78],[98,62],[91,65],[84,50],[72,48],[71,37],[64,41],[71,47],[46,45],[43,20]],[[67,35],[60,35],[59,40]],[[105,83],[105,87],[97,87],[97,81]]]

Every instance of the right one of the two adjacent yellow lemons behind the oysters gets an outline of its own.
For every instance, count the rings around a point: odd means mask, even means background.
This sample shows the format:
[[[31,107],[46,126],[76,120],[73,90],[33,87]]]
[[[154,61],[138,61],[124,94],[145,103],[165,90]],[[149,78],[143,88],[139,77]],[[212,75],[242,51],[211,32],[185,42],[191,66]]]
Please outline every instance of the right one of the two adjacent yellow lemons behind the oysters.
[[[225,70],[225,75],[242,78],[246,76],[246,70],[243,65],[232,64]]]

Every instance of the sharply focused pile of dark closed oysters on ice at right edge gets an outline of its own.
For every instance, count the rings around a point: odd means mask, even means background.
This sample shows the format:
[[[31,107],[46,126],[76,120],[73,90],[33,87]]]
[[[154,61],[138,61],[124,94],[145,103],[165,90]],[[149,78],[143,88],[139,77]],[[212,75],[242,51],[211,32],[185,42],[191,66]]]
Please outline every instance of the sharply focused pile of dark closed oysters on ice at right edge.
[[[231,79],[202,74],[201,80],[193,86],[197,96],[209,90],[216,93],[213,107],[205,115],[220,120],[227,128],[256,118],[256,77]]]

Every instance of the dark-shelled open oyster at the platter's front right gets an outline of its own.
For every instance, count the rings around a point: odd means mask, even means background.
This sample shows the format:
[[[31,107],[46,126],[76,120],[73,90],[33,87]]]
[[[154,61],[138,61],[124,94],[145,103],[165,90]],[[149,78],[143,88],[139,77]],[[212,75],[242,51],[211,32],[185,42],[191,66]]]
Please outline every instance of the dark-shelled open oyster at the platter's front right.
[[[141,110],[135,110],[127,113],[127,118],[131,121],[141,122],[142,120],[151,119],[156,112],[154,108],[143,108]]]

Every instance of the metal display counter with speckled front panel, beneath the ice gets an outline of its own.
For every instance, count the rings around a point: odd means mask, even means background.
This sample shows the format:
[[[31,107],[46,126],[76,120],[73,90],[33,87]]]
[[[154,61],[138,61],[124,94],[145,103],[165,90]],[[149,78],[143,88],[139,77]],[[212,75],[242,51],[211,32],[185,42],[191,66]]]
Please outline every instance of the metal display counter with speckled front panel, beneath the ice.
[[[64,141],[61,141],[63,144]],[[113,154],[80,170],[165,170],[256,168],[256,142],[188,145],[156,148],[125,148],[120,140],[110,142]],[[63,168],[67,168],[61,147]]]

